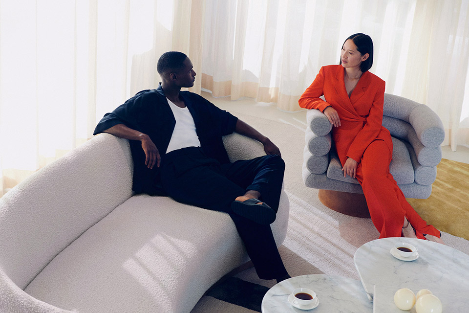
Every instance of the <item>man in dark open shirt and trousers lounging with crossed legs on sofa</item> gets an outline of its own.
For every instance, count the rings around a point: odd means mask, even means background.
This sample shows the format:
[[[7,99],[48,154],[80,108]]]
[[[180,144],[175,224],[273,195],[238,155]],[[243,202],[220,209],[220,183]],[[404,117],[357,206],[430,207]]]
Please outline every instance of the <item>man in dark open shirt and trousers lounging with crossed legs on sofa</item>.
[[[277,146],[203,97],[180,91],[192,87],[196,75],[184,53],[164,53],[157,70],[160,86],[107,113],[94,134],[129,139],[136,193],[228,213],[257,275],[277,282],[289,278],[270,228],[285,169]],[[260,141],[267,156],[230,163],[222,136],[233,132]]]

